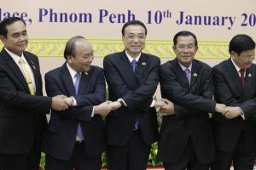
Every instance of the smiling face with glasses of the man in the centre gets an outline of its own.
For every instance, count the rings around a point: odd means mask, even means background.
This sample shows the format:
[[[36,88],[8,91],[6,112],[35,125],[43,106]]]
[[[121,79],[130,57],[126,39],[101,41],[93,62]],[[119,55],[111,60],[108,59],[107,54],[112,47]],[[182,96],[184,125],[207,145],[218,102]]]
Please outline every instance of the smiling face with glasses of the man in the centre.
[[[145,48],[146,33],[143,26],[131,25],[125,28],[125,36],[122,37],[125,49],[132,58],[137,57]]]

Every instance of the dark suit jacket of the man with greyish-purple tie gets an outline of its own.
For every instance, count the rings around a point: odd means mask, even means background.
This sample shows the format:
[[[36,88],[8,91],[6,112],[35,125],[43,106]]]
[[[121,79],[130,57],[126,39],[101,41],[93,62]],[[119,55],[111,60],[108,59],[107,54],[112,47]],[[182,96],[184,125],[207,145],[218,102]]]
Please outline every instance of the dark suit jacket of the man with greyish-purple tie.
[[[163,116],[158,159],[176,161],[183,154],[189,134],[201,163],[214,159],[214,142],[208,112],[214,112],[212,72],[210,66],[193,59],[191,82],[177,59],[160,67],[162,98],[174,103],[175,115]]]

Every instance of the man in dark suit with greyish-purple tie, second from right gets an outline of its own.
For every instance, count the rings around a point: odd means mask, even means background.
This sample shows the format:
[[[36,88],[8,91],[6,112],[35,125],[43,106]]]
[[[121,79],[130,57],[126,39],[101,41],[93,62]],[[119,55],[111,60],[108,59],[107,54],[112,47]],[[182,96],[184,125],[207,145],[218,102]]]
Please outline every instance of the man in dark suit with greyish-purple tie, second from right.
[[[173,38],[176,59],[160,67],[160,88],[168,105],[161,107],[163,121],[157,158],[166,170],[207,170],[214,159],[209,112],[224,109],[212,100],[211,67],[194,59],[195,35],[180,31]]]

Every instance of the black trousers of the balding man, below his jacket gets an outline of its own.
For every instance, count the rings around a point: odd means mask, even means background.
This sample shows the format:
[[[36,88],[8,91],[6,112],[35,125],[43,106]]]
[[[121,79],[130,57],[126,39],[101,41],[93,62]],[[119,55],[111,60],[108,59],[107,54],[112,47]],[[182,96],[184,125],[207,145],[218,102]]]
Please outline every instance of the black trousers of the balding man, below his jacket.
[[[46,155],[45,170],[100,170],[101,167],[102,156],[88,156],[84,142],[75,144],[73,155],[67,161]]]

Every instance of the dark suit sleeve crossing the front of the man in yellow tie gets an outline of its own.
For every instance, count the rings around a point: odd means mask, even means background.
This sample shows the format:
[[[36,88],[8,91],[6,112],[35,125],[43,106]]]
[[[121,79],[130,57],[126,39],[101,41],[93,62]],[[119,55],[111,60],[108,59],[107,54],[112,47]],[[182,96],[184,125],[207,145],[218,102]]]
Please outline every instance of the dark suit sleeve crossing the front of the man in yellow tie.
[[[49,113],[51,98],[26,94],[21,91],[3,68],[0,68],[0,82],[0,96],[3,102],[15,107]]]

